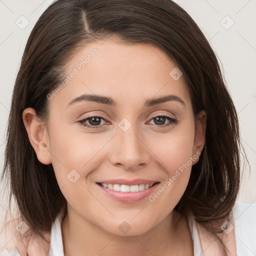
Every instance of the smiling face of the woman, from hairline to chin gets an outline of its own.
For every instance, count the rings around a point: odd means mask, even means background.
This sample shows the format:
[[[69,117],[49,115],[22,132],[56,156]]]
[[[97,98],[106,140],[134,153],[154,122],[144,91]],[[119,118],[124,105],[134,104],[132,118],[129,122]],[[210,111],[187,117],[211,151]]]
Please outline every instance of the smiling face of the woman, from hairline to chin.
[[[205,116],[194,120],[182,73],[153,45],[97,41],[66,66],[67,80],[47,96],[48,150],[36,149],[38,159],[52,163],[69,214],[118,235],[144,233],[181,198]]]

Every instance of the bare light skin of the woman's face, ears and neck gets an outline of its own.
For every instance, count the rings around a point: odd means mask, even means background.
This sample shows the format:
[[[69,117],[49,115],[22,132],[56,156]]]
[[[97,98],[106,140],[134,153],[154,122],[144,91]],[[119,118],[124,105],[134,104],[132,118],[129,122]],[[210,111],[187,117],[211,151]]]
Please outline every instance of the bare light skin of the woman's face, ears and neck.
[[[191,165],[157,198],[125,203],[105,195],[95,183],[103,179],[145,178],[158,180],[154,194],[169,177],[204,145],[206,114],[193,117],[191,99],[175,67],[153,45],[127,45],[113,38],[82,47],[66,65],[66,74],[97,48],[99,52],[49,102],[46,123],[34,109],[23,111],[23,121],[38,160],[52,163],[58,185],[67,200],[62,222],[65,255],[193,255],[185,217],[173,210],[187,186]],[[79,101],[81,94],[111,97],[116,106]],[[153,106],[144,101],[167,94],[180,97]],[[67,106],[68,105],[68,106]],[[100,116],[101,128],[87,128],[78,121]],[[154,119],[169,115],[177,120],[161,127]],[[126,118],[126,131],[118,123]],[[93,123],[92,123],[93,124]],[[80,177],[72,183],[67,174]],[[123,234],[118,226],[131,227]],[[184,246],[185,244],[185,246]],[[86,253],[86,254],[85,254]]]

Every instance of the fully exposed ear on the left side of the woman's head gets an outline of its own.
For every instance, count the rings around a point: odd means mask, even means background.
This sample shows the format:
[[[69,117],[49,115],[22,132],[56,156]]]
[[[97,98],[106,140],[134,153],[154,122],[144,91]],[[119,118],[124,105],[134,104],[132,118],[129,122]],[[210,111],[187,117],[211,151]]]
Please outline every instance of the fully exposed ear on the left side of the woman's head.
[[[46,125],[36,116],[35,110],[31,107],[23,111],[22,118],[38,160],[43,164],[51,163]]]

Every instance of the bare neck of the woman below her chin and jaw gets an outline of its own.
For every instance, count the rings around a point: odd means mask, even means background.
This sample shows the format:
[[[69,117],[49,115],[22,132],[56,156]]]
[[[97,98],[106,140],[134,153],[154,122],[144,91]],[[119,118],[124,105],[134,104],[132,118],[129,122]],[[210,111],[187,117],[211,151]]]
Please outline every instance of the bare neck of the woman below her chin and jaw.
[[[94,225],[68,206],[62,221],[64,255],[170,256],[179,254],[183,249],[185,255],[193,255],[187,221],[180,217],[172,210],[145,233],[120,236]]]

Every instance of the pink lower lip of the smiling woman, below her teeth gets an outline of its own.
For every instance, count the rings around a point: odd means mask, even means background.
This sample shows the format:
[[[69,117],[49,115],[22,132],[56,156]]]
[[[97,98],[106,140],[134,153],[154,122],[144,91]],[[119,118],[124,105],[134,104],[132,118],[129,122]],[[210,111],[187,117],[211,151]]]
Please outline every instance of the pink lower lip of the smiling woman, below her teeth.
[[[121,191],[115,191],[112,189],[105,188],[99,184],[96,184],[99,186],[99,188],[109,197],[121,201],[121,202],[137,202],[148,196],[150,193],[153,192],[153,190],[157,187],[159,183],[154,183],[151,187],[144,189],[142,191],[138,192],[121,192]]]

